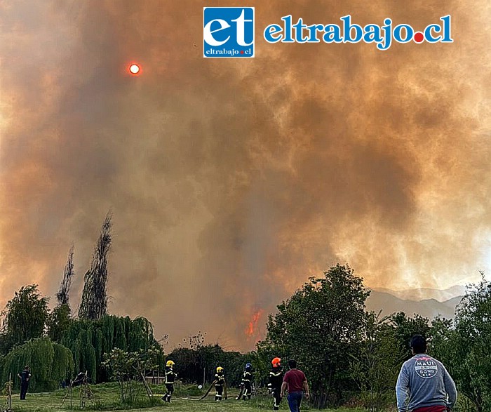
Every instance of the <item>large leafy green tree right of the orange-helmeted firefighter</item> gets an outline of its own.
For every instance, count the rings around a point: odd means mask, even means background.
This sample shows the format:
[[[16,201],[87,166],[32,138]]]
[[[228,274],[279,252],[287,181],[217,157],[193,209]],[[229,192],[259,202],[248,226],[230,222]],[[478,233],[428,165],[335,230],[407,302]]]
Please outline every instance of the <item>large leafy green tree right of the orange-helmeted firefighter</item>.
[[[358,350],[368,295],[351,267],[338,264],[324,277],[309,278],[269,315],[265,344],[297,360],[316,407],[339,404],[343,390],[353,387],[350,355]]]

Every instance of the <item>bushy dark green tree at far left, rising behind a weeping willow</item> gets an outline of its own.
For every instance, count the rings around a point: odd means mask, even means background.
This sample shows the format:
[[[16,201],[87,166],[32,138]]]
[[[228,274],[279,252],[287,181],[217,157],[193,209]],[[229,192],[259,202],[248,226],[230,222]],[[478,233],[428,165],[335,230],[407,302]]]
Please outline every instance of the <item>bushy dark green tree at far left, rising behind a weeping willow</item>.
[[[2,352],[32,338],[40,338],[48,319],[49,298],[41,297],[38,285],[22,286],[1,313]]]

